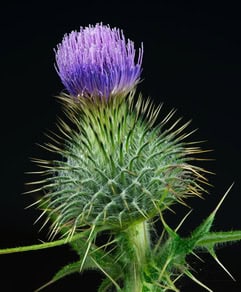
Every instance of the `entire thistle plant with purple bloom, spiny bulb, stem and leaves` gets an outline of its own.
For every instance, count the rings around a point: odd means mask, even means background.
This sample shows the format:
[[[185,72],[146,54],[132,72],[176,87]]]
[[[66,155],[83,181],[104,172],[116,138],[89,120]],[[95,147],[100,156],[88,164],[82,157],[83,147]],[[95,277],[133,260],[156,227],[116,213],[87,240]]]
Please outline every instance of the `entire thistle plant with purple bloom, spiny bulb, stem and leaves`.
[[[186,238],[178,234],[185,218],[175,229],[165,221],[172,205],[187,206],[188,197],[205,193],[207,171],[194,165],[204,151],[186,141],[189,122],[175,119],[175,111],[160,118],[161,106],[136,97],[143,47],[136,54],[122,31],[97,24],[65,35],[55,53],[67,120],[44,146],[58,159],[36,160],[42,178],[31,192],[43,192],[34,205],[43,225],[51,222],[50,239],[61,239],[0,253],[70,244],[79,261],[46,285],[97,269],[106,276],[99,291],[179,291],[183,275],[211,291],[191,273],[187,255],[206,250],[224,268],[215,247],[240,240],[241,231],[211,231],[228,192]],[[108,239],[98,245],[103,234]]]

